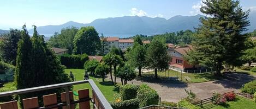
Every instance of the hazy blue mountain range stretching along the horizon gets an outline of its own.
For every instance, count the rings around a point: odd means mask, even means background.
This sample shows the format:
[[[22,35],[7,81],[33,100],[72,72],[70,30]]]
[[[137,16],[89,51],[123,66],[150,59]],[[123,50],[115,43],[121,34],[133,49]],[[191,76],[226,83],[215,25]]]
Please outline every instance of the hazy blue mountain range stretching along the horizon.
[[[62,28],[66,27],[85,27],[93,26],[96,28],[98,33],[103,34],[163,34],[166,32],[176,32],[180,30],[194,30],[200,24],[199,18],[204,17],[203,15],[195,16],[174,16],[169,20],[160,17],[139,17],[139,16],[123,16],[114,18],[100,18],[94,20],[91,23],[78,23],[69,21],[61,25],[46,25],[38,27],[39,34],[53,34],[56,31],[61,31]],[[249,15],[251,26],[248,27],[249,31],[256,29],[256,12],[251,12]],[[29,33],[33,33],[33,29],[29,30]]]

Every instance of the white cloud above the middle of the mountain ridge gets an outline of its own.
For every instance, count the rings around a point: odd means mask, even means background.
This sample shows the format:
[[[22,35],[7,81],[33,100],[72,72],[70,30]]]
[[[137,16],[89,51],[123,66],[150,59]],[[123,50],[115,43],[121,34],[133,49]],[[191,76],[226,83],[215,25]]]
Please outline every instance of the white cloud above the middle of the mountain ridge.
[[[140,10],[140,9],[137,9],[137,8],[130,9],[130,16],[163,17],[162,14],[158,14],[158,15],[155,15],[155,16],[150,16],[150,15],[147,14],[147,12],[145,12],[143,10]]]

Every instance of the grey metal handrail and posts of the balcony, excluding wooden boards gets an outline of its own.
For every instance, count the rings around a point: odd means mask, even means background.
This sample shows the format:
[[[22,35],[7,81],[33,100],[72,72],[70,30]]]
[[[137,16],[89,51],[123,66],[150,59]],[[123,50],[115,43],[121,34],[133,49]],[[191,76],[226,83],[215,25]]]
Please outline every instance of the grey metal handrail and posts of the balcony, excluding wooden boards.
[[[84,99],[84,100],[76,100],[76,101],[70,102],[69,87],[73,86],[73,85],[79,85],[79,84],[85,84],[85,83],[89,83],[90,86],[92,87],[92,96],[93,97],[92,98],[87,98],[87,99]],[[112,109],[109,102],[106,100],[106,98],[104,97],[102,92],[100,92],[99,88],[96,86],[94,81],[91,80],[91,79],[82,80],[82,81],[74,81],[74,82],[66,82],[66,83],[62,83],[62,84],[39,86],[39,87],[33,87],[33,88],[25,88],[25,89],[19,89],[19,90],[16,90],[16,91],[1,92],[0,97],[6,97],[6,96],[9,96],[9,95],[15,95],[15,94],[24,94],[24,93],[29,93],[29,92],[44,91],[44,90],[47,90],[47,89],[63,88],[63,87],[65,88],[65,92],[66,92],[66,94],[65,94],[66,95],[66,102],[57,104],[53,107],[61,107],[61,106],[66,105],[67,108],[70,109],[70,104],[76,104],[78,102],[91,100],[92,103],[93,103],[94,108]],[[40,107],[40,108],[53,108],[53,107],[51,106],[51,107]]]

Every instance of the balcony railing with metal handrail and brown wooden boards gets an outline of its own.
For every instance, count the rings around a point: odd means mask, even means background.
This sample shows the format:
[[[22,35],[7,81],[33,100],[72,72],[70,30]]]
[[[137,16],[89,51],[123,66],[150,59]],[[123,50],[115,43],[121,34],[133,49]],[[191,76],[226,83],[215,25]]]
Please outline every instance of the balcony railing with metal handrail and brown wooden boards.
[[[89,83],[92,87],[92,98],[89,96],[89,89],[81,89],[78,91],[79,93],[79,100],[74,100],[73,92],[69,91],[69,87],[73,85],[79,84],[86,84]],[[74,81],[74,82],[66,82],[62,84],[55,84],[55,85],[48,85],[48,86],[40,86],[40,87],[33,87],[33,88],[26,88],[26,89],[19,89],[16,91],[9,91],[9,92],[2,92],[0,93],[1,97],[6,97],[9,95],[16,95],[16,94],[24,94],[30,92],[37,92],[37,91],[44,91],[47,89],[55,89],[55,88],[65,88],[65,92],[61,93],[61,103],[57,102],[56,94],[44,95],[43,101],[44,106],[38,106],[38,98],[27,98],[23,99],[23,108],[30,109],[30,108],[58,108],[63,107],[67,109],[74,109],[75,105],[79,103],[79,108],[90,108],[90,101],[93,104],[93,108],[99,109],[112,109],[109,102],[106,100],[102,92],[100,92],[99,88],[93,82],[93,80],[82,80],[82,81]],[[0,104],[1,109],[17,109],[17,101],[10,101],[4,102]]]

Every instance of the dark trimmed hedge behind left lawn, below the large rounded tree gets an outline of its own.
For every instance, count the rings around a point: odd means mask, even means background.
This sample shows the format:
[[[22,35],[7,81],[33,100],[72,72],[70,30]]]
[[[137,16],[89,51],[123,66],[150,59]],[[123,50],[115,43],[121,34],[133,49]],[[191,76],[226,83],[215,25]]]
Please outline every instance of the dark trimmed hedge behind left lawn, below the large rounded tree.
[[[82,55],[69,55],[63,54],[59,55],[59,60],[61,64],[67,68],[84,68],[84,63],[89,60],[87,54]]]

